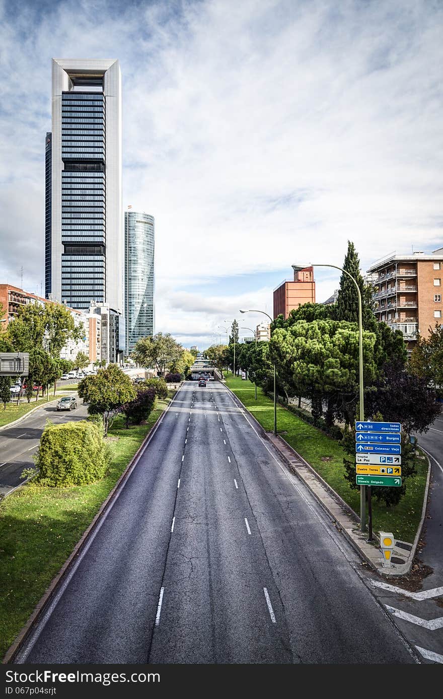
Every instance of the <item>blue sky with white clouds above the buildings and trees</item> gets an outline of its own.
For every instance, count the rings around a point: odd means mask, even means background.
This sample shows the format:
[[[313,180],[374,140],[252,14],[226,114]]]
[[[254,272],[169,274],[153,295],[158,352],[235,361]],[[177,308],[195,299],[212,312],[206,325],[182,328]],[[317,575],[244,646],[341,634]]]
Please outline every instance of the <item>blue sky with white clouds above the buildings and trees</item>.
[[[119,59],[123,203],[155,217],[155,331],[186,347],[348,240],[363,272],[443,247],[440,1],[0,0],[0,27],[0,283],[44,295],[53,57]]]

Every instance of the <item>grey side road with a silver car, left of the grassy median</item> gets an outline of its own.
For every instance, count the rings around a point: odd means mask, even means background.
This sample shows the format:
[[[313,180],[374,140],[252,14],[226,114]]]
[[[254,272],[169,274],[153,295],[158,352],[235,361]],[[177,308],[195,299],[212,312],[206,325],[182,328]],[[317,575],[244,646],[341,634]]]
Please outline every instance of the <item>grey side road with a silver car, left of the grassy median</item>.
[[[66,396],[68,395],[66,391]],[[81,399],[78,408],[71,412],[57,412],[56,408],[57,403],[41,405],[36,412],[14,427],[0,429],[0,495],[6,495],[22,484],[22,470],[34,466],[32,454],[36,452],[48,419],[57,424],[68,420],[82,420],[87,416],[87,406],[82,405]]]

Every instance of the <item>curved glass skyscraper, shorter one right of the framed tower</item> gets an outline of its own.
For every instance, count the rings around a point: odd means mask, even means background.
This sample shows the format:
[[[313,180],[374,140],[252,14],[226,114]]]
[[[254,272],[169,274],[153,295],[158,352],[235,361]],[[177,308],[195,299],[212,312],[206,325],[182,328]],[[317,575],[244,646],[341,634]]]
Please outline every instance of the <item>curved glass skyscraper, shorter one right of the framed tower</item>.
[[[124,317],[126,355],[154,334],[154,217],[124,213]]]

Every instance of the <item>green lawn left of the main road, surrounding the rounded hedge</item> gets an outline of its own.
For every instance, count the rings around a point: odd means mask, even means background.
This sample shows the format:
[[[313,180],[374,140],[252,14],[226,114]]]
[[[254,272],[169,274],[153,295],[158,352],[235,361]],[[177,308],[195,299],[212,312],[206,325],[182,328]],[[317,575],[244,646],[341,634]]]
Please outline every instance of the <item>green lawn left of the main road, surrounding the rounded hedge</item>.
[[[0,657],[89,526],[152,425],[170,402],[157,401],[146,425],[126,430],[119,417],[109,435],[112,461],[103,480],[82,487],[27,484],[0,503]]]

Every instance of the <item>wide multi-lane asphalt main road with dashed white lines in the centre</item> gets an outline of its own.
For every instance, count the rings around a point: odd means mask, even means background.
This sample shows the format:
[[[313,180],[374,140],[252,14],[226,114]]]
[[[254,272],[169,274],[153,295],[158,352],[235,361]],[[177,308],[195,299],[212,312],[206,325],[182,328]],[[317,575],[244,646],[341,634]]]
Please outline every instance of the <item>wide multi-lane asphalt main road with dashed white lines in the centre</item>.
[[[187,382],[18,663],[414,663],[302,484]]]

